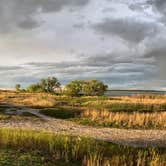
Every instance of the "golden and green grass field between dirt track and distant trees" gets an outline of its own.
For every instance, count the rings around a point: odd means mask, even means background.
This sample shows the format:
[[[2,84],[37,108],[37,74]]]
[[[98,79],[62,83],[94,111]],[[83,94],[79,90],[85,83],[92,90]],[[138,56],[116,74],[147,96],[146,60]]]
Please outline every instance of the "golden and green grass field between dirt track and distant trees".
[[[16,108],[37,108],[44,115],[84,125],[134,129],[166,128],[166,95],[66,97],[3,91],[0,93],[0,102]],[[4,106],[0,106],[0,112],[4,110]]]

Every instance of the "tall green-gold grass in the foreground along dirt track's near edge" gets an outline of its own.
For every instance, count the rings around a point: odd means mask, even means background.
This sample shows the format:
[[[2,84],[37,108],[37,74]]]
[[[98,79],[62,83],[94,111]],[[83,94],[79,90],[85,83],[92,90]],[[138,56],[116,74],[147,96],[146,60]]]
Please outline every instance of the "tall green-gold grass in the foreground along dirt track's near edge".
[[[141,149],[90,138],[46,132],[0,129],[0,146],[49,155],[52,161],[77,162],[82,166],[164,166],[165,149]]]

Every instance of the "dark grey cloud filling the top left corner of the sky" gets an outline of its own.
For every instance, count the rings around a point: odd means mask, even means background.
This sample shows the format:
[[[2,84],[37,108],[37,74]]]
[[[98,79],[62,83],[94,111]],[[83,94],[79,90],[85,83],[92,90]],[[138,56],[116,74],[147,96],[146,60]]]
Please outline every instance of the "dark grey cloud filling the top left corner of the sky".
[[[81,7],[90,0],[0,0],[0,32],[16,28],[33,29],[39,26],[35,18],[40,13],[59,12],[65,7]]]

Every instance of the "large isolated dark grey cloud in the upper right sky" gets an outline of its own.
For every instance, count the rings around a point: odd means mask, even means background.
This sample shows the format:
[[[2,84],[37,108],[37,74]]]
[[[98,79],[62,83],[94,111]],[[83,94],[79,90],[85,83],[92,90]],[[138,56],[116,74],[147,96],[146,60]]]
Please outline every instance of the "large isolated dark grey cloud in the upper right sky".
[[[139,43],[158,32],[158,27],[153,22],[143,22],[133,18],[104,19],[93,28],[104,35],[119,36],[132,43]]]

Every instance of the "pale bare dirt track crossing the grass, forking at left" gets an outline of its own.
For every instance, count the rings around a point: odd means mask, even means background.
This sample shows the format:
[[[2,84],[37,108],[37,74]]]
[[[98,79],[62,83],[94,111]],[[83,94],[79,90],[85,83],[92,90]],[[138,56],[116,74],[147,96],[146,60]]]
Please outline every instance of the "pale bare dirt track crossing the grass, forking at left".
[[[7,110],[10,112],[10,108]],[[37,109],[21,108],[16,110],[19,115],[23,112],[29,112],[41,118],[42,120],[5,120],[0,121],[1,128],[18,128],[44,130],[55,133],[67,133],[75,136],[87,136],[98,140],[105,140],[112,143],[137,147],[166,147],[166,130],[132,130],[116,128],[97,128],[78,125],[74,122],[53,119],[42,115]]]

